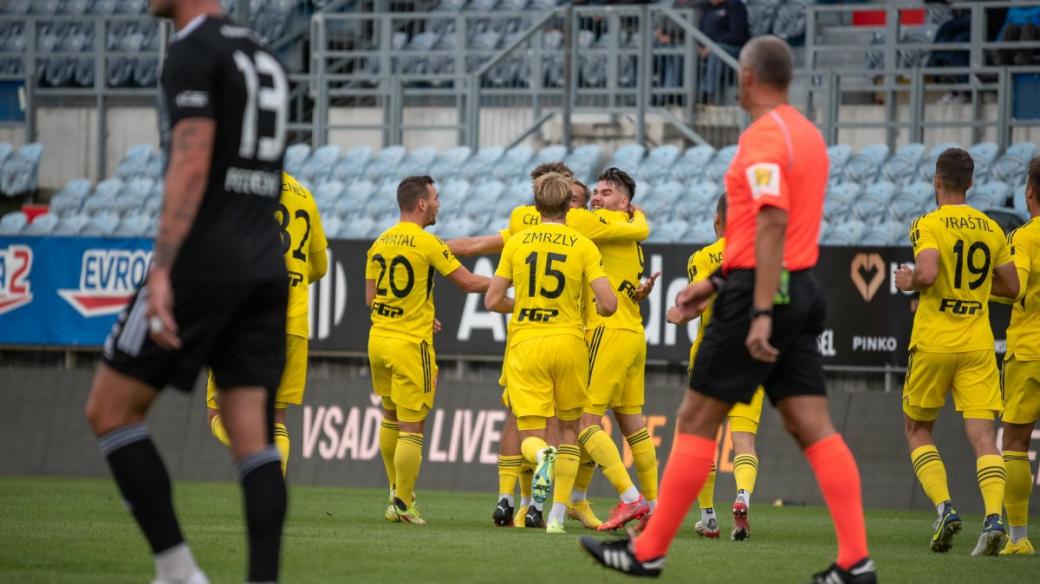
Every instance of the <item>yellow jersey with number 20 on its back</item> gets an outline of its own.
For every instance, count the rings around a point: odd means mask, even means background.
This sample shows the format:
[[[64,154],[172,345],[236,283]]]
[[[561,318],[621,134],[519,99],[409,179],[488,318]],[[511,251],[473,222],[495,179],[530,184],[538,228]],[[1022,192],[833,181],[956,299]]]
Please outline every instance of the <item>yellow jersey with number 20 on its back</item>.
[[[462,264],[437,236],[401,221],[368,249],[365,280],[375,284],[369,336],[434,341],[434,271],[448,275]]]

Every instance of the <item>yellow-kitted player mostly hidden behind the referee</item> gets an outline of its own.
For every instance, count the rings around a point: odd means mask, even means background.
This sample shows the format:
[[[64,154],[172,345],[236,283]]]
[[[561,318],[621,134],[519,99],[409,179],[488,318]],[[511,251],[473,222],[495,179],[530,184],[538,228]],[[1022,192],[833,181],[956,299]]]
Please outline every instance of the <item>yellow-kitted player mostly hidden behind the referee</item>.
[[[723,255],[726,249],[726,238],[723,234],[726,231],[726,194],[719,197],[716,206],[714,216],[716,240],[711,245],[707,245],[697,250],[686,262],[686,272],[690,275],[691,284],[706,280],[722,266]],[[690,346],[690,366],[694,366],[694,356],[701,346],[704,338],[704,329],[711,320],[711,304],[701,314],[700,326],[697,329],[697,339]],[[683,318],[678,313],[669,315],[669,322],[673,324],[684,324]],[[751,403],[735,403],[729,410],[729,428],[733,441],[733,478],[736,481],[736,500],[733,502],[733,531],[730,532],[730,539],[743,541],[751,537],[751,526],[748,523],[748,510],[751,507],[751,494],[755,490],[755,481],[758,479],[758,456],[755,453],[755,434],[758,433],[758,422],[762,417],[762,398],[765,392],[758,388]],[[697,496],[697,503],[701,508],[701,521],[697,522],[694,529],[704,537],[719,537],[719,520],[714,512],[714,479],[716,470],[712,468],[708,473],[707,481],[701,487],[701,493]]]

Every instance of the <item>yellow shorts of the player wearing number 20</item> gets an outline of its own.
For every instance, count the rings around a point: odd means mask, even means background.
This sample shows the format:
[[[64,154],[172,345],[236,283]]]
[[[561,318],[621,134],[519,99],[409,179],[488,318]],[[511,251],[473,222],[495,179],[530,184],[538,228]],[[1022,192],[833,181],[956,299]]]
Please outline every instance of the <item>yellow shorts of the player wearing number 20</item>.
[[[401,422],[426,419],[437,394],[437,354],[430,343],[369,337],[368,365],[384,407],[395,409]]]

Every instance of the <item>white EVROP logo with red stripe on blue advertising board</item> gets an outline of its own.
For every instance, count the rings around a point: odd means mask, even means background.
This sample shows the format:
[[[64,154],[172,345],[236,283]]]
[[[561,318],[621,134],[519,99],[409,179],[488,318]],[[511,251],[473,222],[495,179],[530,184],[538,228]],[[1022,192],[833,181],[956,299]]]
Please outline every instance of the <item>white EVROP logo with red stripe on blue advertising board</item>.
[[[79,288],[58,294],[84,317],[119,314],[148,277],[152,253],[144,249],[87,249]]]

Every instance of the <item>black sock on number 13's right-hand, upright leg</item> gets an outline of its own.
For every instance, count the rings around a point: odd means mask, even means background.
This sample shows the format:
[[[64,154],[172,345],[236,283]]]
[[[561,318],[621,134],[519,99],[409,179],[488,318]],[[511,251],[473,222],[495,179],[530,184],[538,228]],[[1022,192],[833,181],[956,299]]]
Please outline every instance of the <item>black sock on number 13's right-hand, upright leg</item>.
[[[282,458],[274,446],[236,462],[250,536],[250,582],[278,582],[286,492]]]

